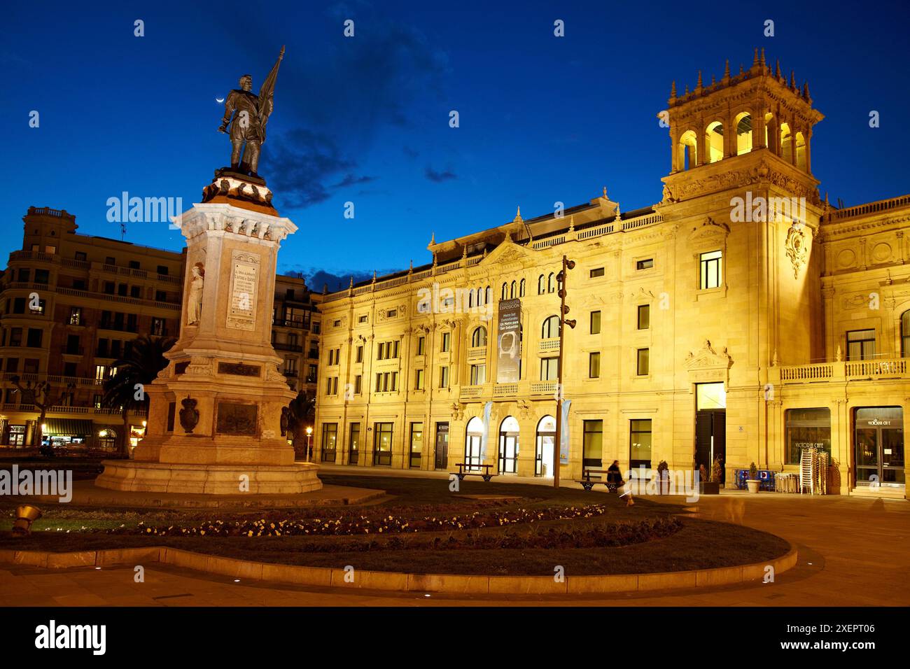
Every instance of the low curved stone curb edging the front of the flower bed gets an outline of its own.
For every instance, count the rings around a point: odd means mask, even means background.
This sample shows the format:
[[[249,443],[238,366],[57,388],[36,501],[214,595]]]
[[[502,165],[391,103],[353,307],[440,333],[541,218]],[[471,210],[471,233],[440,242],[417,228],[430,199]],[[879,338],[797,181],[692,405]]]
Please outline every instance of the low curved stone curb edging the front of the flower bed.
[[[369,572],[354,570],[353,582],[343,569],[291,564],[255,563],[206,555],[177,548],[150,547],[101,551],[42,552],[0,550],[0,563],[27,564],[46,569],[165,563],[250,581],[317,585],[339,589],[459,594],[586,594],[643,593],[655,590],[701,588],[749,583],[763,579],[766,568],[776,576],[796,566],[793,544],[781,557],[767,563],[697,569],[688,572],[628,573],[604,576],[566,576],[562,583],[552,576],[467,576],[460,574]]]

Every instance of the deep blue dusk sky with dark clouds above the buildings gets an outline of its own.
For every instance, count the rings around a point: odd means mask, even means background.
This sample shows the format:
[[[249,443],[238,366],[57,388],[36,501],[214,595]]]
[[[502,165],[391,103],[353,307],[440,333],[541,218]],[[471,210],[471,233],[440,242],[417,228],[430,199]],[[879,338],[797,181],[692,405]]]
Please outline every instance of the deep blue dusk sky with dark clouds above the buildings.
[[[852,205],[910,192],[902,3],[622,5],[7,4],[0,252],[19,248],[30,205],[66,208],[80,232],[119,238],[106,199],[124,190],[197,202],[229,154],[216,98],[246,73],[258,92],[281,45],[259,170],[300,228],[281,271],[405,268],[429,260],[432,231],[441,240],[499,225],[516,205],[530,218],[602,186],[623,210],[650,205],[670,167],[655,115],[671,81],[682,91],[702,69],[707,83],[725,58],[733,72],[748,67],[753,46],[808,79],[826,116],[812,146],[823,194]],[[133,35],[137,18],[144,37]],[[342,35],[347,18],[353,38]],[[565,37],[553,36],[556,19]],[[31,110],[39,128],[28,127]],[[183,246],[166,224],[130,224],[126,239]]]

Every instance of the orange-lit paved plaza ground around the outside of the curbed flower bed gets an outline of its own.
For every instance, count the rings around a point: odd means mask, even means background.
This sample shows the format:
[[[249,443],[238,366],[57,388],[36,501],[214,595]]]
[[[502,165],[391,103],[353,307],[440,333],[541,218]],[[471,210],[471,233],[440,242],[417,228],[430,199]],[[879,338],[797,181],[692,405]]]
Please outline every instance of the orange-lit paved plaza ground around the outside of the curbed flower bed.
[[[326,468],[337,473],[336,468]],[[358,472],[363,475],[362,471]],[[396,472],[400,475],[401,472]],[[528,482],[523,480],[521,482]],[[377,481],[377,488],[381,484]],[[592,501],[602,492],[591,492]],[[679,502],[679,498],[664,498]],[[906,606],[910,604],[910,503],[855,497],[723,492],[693,506],[712,520],[773,532],[799,549],[799,564],[774,583],[603,595],[445,595],[346,592],[146,567],[45,570],[0,565],[0,605],[425,606],[425,605],[712,605]]]

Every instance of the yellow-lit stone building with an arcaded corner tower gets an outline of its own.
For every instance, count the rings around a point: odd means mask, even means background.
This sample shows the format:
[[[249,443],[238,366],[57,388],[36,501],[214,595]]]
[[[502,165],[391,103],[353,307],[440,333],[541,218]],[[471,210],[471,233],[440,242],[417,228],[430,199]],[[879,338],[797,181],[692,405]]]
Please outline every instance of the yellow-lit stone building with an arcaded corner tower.
[[[910,196],[821,198],[812,103],[757,52],[700,74],[672,86],[654,205],[621,211],[604,189],[433,239],[431,264],[326,296],[319,459],[551,476],[565,255],[563,480],[719,456],[729,485],[752,462],[796,472],[815,447],[828,492],[905,496]]]

